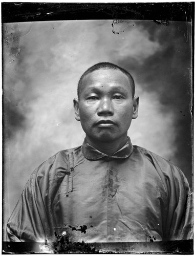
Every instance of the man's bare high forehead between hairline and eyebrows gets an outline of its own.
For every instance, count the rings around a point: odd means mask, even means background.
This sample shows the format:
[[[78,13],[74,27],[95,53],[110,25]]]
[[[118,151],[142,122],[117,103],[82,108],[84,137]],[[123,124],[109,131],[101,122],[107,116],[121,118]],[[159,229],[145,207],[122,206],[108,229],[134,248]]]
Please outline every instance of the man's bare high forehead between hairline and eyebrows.
[[[98,84],[110,84],[114,87],[122,86],[126,89],[132,90],[132,86],[128,77],[123,72],[117,69],[100,69],[89,73],[83,78],[82,90],[85,90],[89,87],[91,88],[94,86],[98,86]]]

